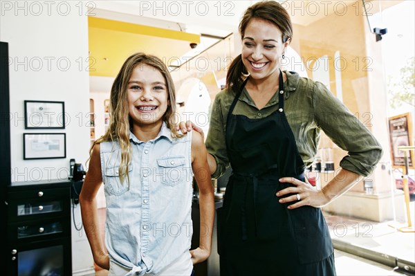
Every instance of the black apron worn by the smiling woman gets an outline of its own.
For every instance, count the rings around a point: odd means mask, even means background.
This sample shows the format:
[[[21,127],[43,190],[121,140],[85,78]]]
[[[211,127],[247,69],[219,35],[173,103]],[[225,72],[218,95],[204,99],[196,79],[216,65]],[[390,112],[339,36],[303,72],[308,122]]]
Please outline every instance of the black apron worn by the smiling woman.
[[[283,87],[280,71],[279,109],[266,118],[232,114],[241,91],[228,112],[232,176],[218,210],[221,275],[335,275],[333,244],[320,208],[288,210],[275,195],[291,186],[279,178],[304,181],[305,169],[284,114]]]

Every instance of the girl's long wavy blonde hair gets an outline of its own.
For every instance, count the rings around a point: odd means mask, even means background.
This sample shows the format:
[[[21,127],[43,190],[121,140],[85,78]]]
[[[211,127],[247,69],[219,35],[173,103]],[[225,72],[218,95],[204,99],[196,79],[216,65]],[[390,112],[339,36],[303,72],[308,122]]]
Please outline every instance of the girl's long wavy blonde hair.
[[[120,181],[122,182],[127,176],[129,181],[128,167],[131,161],[132,147],[129,142],[129,132],[131,127],[131,118],[129,116],[128,100],[127,100],[127,86],[131,74],[136,66],[147,64],[153,66],[155,70],[159,71],[165,78],[168,91],[167,110],[163,115],[163,121],[167,127],[172,131],[174,138],[181,137],[176,131],[174,114],[176,113],[176,91],[174,89],[174,82],[172,76],[167,69],[167,66],[161,59],[154,55],[146,55],[145,53],[136,53],[127,58],[122,64],[121,70],[111,87],[110,103],[109,103],[109,128],[104,136],[98,138],[93,142],[90,150],[92,154],[93,147],[100,142],[118,142],[121,149],[120,168],[118,169]]]

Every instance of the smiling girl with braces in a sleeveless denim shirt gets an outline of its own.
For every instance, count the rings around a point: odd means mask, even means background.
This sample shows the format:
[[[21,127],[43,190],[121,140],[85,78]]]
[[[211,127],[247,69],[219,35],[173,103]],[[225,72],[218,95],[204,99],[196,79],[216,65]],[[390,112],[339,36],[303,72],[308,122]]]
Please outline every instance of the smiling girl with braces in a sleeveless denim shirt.
[[[201,134],[173,127],[172,77],[151,55],[131,55],[111,88],[111,122],[91,148],[80,203],[93,259],[109,275],[191,275],[210,255],[214,193]],[[192,176],[199,185],[200,246],[192,239]],[[95,195],[104,183],[106,253]],[[189,251],[190,250],[190,251]]]

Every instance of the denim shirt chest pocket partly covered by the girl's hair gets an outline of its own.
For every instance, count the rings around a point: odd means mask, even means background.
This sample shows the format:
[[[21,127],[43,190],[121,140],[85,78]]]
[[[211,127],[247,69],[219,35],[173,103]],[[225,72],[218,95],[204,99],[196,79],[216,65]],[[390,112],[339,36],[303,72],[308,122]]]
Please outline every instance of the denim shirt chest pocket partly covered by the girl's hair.
[[[133,166],[130,164],[128,166],[129,181],[132,181],[132,171]],[[120,181],[120,167],[107,167],[107,169],[105,169],[105,177],[107,178],[107,183],[105,183],[104,189],[107,190],[109,194],[120,196],[129,190],[127,176],[124,177],[122,182]]]

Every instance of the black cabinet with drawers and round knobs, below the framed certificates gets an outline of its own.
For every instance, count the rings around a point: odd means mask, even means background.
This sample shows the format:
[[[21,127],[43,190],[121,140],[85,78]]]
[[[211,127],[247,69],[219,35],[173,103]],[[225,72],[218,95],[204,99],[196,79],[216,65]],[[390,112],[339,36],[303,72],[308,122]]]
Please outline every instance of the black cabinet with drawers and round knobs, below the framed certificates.
[[[71,181],[7,187],[8,275],[72,275]]]

